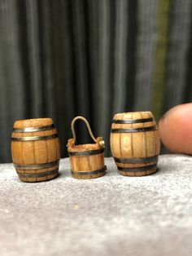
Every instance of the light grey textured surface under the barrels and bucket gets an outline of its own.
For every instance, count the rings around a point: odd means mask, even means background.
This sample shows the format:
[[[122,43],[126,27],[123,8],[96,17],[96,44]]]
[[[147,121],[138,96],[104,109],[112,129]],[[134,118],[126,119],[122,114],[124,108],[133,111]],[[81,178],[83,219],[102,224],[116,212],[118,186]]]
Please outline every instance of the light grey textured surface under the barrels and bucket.
[[[192,157],[159,157],[159,171],[72,179],[68,159],[58,179],[22,183],[0,166],[0,254],[191,255]]]

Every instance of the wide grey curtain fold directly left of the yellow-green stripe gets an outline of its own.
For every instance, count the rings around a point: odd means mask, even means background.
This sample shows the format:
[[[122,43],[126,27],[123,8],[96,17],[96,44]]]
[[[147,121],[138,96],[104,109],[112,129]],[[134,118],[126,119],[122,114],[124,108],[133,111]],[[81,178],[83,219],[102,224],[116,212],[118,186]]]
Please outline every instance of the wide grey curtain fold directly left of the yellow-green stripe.
[[[137,76],[135,82],[134,109],[151,109],[153,96],[153,74],[155,73],[155,51],[157,45],[158,2],[138,1],[137,13]]]

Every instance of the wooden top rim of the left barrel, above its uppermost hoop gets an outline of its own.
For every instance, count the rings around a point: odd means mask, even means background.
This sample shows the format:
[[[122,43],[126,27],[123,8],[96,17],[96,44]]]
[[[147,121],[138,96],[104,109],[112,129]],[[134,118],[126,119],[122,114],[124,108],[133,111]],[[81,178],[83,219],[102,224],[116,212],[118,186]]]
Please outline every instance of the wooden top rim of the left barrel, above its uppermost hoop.
[[[51,124],[53,124],[53,120],[50,117],[20,119],[14,122],[14,128],[48,126]]]

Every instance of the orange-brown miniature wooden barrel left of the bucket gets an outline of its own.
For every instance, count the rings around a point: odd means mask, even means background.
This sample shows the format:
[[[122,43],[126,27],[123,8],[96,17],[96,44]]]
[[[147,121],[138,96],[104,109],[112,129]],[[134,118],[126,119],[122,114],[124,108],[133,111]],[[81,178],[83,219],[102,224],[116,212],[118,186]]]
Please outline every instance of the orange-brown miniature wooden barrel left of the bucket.
[[[15,121],[11,154],[20,180],[38,182],[55,179],[59,174],[60,147],[52,119]]]

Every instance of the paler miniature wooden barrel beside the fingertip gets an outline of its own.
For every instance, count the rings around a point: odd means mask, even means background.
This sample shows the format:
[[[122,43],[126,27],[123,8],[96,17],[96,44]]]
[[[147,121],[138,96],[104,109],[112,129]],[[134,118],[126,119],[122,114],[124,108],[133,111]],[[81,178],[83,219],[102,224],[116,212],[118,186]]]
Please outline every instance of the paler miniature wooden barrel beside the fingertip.
[[[151,112],[116,114],[110,143],[120,174],[142,176],[156,172],[160,142]]]

